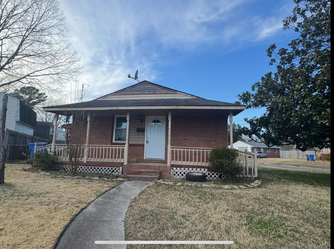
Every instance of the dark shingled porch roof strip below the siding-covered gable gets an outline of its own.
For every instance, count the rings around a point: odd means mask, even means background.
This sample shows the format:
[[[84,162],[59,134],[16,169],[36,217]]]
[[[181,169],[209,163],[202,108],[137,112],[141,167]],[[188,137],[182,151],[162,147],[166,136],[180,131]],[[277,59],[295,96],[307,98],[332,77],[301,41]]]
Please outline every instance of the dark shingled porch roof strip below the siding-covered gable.
[[[205,99],[132,99],[132,100],[92,100],[83,103],[75,103],[60,106],[48,106],[44,108],[76,108],[76,107],[141,107],[141,106],[215,106],[215,107],[242,107],[234,103],[220,102]]]

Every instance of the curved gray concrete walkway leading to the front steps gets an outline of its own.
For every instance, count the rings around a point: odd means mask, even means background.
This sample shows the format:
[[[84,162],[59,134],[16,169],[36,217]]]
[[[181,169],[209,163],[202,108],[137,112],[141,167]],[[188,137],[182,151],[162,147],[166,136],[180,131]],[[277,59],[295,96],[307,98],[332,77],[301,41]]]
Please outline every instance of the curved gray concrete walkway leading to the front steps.
[[[153,182],[127,181],[101,195],[74,218],[56,248],[126,248],[126,245],[94,242],[124,240],[124,219],[131,199],[151,184]]]

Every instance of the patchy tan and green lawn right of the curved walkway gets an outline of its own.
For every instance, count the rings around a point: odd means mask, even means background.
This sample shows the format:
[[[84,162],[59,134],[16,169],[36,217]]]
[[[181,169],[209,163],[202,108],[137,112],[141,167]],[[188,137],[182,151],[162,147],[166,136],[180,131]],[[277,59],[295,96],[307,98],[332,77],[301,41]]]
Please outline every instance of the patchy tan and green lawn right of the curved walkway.
[[[128,209],[126,240],[234,241],[145,248],[330,248],[330,174],[266,166],[258,173],[263,183],[251,189],[148,187]]]

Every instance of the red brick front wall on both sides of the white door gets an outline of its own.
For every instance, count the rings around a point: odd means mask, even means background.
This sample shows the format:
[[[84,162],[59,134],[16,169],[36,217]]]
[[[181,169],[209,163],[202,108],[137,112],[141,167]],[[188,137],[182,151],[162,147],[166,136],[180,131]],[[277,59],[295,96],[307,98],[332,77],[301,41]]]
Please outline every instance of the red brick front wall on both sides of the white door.
[[[113,123],[113,115],[100,115],[92,118],[89,144],[124,144],[113,142]],[[81,136],[82,143],[85,143],[87,122],[80,130],[75,129],[75,122],[73,122],[72,127],[72,134]],[[144,159],[144,144],[130,143],[128,151],[128,163],[130,163],[131,158],[137,158],[137,162],[167,163],[167,145],[168,117],[166,116],[165,159]],[[172,115],[171,145],[180,147],[204,148],[212,148],[214,146],[227,146],[227,117],[220,115]],[[279,151],[275,154],[279,155]]]

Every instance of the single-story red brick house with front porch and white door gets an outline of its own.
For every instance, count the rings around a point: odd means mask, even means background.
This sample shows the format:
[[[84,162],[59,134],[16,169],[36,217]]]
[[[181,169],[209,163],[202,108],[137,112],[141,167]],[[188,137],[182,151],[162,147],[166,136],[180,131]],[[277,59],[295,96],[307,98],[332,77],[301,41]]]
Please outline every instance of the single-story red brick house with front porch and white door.
[[[123,175],[159,170],[163,177],[170,177],[173,167],[207,168],[210,148],[228,145],[228,118],[232,125],[233,116],[244,109],[148,81],[93,101],[43,108],[56,120],[73,115],[71,139],[82,138],[82,167],[110,167]],[[78,112],[86,115],[84,124],[75,121]],[[79,123],[85,132],[76,128]],[[48,146],[61,150],[55,142]]]

